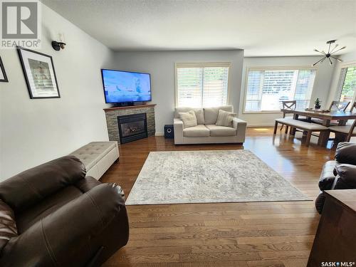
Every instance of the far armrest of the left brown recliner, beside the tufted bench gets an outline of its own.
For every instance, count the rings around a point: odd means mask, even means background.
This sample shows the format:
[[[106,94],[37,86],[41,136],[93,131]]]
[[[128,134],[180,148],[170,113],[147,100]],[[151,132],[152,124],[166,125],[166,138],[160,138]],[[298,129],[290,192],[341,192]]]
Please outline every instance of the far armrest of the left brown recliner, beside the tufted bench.
[[[84,177],[85,167],[80,159],[60,157],[1,182],[0,199],[18,212]]]

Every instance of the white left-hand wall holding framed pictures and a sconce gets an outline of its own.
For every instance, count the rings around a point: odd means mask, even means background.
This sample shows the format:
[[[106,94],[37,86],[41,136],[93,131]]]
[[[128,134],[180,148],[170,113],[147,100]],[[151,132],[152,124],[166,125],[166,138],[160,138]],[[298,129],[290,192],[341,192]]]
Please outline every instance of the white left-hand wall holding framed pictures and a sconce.
[[[28,96],[17,51],[1,50],[9,83],[0,83],[0,180],[91,141],[108,140],[100,68],[110,68],[112,51],[42,5],[41,53],[53,56],[61,98]],[[66,35],[67,46],[51,41]]]

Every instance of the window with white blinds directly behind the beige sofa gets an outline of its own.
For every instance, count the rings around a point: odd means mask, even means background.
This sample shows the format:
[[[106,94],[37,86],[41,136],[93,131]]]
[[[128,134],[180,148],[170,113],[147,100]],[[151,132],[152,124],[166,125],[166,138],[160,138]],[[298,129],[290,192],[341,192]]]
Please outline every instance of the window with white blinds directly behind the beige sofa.
[[[230,63],[177,63],[176,106],[214,107],[228,101]]]

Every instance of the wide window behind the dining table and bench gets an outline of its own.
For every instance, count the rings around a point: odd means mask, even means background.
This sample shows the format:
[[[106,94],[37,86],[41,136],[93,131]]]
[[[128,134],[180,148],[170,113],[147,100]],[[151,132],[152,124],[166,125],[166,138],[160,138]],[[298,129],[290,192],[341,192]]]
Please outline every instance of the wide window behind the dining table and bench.
[[[248,69],[245,112],[279,111],[284,100],[308,108],[315,69]]]

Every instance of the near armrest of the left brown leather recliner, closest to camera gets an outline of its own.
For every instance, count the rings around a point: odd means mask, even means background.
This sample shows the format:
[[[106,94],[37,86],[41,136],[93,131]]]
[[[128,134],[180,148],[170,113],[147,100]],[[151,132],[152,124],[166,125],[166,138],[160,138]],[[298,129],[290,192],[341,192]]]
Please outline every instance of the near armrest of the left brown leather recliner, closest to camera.
[[[93,240],[120,211],[126,212],[121,188],[100,184],[11,239],[0,266],[85,266],[102,246]],[[122,234],[124,244],[127,238]]]

